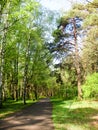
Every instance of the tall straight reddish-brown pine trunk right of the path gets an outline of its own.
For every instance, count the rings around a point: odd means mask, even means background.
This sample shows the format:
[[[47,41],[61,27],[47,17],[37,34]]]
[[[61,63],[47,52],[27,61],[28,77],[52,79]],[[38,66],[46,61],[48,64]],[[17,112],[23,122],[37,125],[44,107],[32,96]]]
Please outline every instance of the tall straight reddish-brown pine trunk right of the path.
[[[78,87],[78,98],[82,99],[82,89],[81,89],[81,69],[80,69],[80,57],[79,57],[79,48],[77,43],[77,29],[76,21],[73,18],[73,27],[74,27],[74,44],[75,44],[75,68],[77,72],[77,87]]]

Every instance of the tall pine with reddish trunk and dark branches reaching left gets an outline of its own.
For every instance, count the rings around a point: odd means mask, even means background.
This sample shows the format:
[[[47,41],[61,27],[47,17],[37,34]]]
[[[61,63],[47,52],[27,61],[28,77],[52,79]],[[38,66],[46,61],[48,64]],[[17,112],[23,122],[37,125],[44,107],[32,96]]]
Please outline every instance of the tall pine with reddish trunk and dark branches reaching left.
[[[68,55],[73,55],[74,58],[74,66],[77,74],[77,86],[78,86],[78,98],[82,98],[82,90],[81,90],[81,64],[80,64],[80,53],[79,53],[79,44],[78,36],[79,30],[81,27],[80,22],[82,21],[76,15],[75,11],[70,11],[68,14],[63,16],[60,20],[59,28],[56,32],[54,32],[54,36],[56,36],[55,41],[57,42],[57,47],[55,50],[65,51],[65,57]]]

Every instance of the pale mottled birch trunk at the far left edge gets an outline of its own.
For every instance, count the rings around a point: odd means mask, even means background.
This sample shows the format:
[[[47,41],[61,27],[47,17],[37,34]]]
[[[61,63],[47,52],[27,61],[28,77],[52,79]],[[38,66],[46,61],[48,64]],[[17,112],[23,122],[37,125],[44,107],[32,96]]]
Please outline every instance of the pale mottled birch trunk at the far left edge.
[[[8,27],[8,13],[9,13],[10,2],[6,2],[2,11],[0,12],[0,26],[1,26],[1,54],[0,54],[0,107],[2,107],[2,90],[4,86],[4,55],[5,55],[5,47],[6,47],[6,34]],[[4,9],[5,8],[5,9]],[[3,14],[4,11],[4,14]],[[1,22],[3,21],[3,22]]]

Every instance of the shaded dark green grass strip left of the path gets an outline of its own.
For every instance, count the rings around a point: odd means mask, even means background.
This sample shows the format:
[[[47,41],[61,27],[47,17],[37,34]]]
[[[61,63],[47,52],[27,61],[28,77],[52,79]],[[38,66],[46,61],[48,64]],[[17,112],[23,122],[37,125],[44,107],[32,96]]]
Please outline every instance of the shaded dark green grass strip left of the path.
[[[19,101],[7,100],[6,102],[3,103],[3,107],[0,109],[0,119],[16,111],[22,110],[23,108],[31,105],[33,102],[34,101],[32,100],[27,100],[26,105],[24,105],[22,100]]]

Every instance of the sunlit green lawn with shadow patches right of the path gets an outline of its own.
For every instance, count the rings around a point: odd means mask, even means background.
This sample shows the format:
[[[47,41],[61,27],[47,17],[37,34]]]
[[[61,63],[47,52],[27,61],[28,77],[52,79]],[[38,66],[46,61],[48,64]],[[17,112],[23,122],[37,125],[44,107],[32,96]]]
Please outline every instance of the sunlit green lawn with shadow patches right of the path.
[[[55,130],[98,130],[98,101],[52,99]]]

